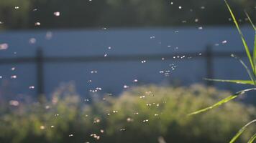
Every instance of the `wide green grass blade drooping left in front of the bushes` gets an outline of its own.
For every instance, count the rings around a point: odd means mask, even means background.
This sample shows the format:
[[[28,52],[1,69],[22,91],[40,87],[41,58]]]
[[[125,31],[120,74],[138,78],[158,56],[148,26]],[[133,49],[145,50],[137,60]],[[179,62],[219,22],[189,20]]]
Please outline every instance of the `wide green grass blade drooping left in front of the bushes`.
[[[206,108],[200,109],[200,110],[198,110],[198,111],[196,111],[196,112],[192,112],[191,114],[188,114],[188,116],[191,116],[191,115],[193,115],[193,114],[199,114],[199,113],[201,113],[201,112],[206,112],[206,111],[208,111],[209,109],[213,109],[213,108],[215,108],[215,107],[219,107],[221,104],[227,103],[227,102],[231,101],[232,99],[237,98],[239,95],[244,94],[245,92],[250,92],[250,91],[252,91],[252,90],[256,90],[256,88],[244,89],[244,90],[242,90],[242,91],[239,91],[239,92],[237,92],[236,94],[234,94],[234,95],[232,95],[232,96],[229,96],[229,97],[227,97],[227,98],[225,98],[225,99],[222,99],[221,101],[217,102],[216,104],[212,105],[211,107],[206,107]]]

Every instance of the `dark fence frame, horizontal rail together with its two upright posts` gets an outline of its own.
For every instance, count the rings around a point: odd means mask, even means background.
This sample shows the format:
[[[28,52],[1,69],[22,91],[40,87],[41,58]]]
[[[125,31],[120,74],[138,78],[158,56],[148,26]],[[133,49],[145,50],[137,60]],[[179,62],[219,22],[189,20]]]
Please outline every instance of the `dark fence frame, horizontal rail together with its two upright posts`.
[[[17,58],[0,58],[0,66],[6,64],[36,64],[37,72],[37,95],[44,94],[44,63],[63,63],[63,62],[111,62],[111,61],[140,61],[140,60],[160,60],[173,59],[174,56],[185,56],[183,59],[198,59],[206,60],[206,77],[214,78],[214,58],[227,58],[235,54],[239,57],[245,57],[243,51],[212,51],[211,46],[206,46],[204,52],[184,52],[175,54],[137,54],[137,55],[122,55],[122,56],[44,56],[42,49],[38,48],[35,57],[17,57]],[[177,60],[173,59],[173,60]],[[207,85],[213,85],[213,82],[206,81]]]

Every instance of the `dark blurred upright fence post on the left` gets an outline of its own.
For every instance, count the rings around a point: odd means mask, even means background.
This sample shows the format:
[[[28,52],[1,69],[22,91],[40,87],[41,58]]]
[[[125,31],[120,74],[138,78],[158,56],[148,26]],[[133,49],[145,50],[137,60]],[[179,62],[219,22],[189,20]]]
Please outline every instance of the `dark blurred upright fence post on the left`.
[[[43,69],[43,52],[39,47],[36,54],[36,66],[37,66],[37,99],[42,102],[44,94],[44,69]]]

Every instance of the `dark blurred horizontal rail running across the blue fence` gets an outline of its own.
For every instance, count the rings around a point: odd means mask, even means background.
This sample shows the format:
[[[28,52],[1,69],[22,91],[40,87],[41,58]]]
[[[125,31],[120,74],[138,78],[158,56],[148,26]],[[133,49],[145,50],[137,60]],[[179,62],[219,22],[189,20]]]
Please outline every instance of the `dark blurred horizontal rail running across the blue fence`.
[[[201,55],[199,55],[201,53]],[[43,62],[105,62],[105,61],[138,61],[142,59],[147,60],[160,60],[161,58],[165,59],[173,59],[173,56],[186,56],[191,57],[191,59],[197,58],[207,58],[211,53],[211,56],[216,58],[227,58],[231,54],[235,54],[240,57],[246,56],[244,52],[218,52],[218,51],[211,51],[211,52],[190,52],[190,53],[177,53],[177,54],[137,54],[137,55],[124,55],[124,56],[42,56]],[[37,58],[40,57],[37,51],[36,57],[18,57],[18,58],[0,58],[0,64],[24,64],[24,63],[35,63]],[[175,59],[173,59],[175,60]]]

